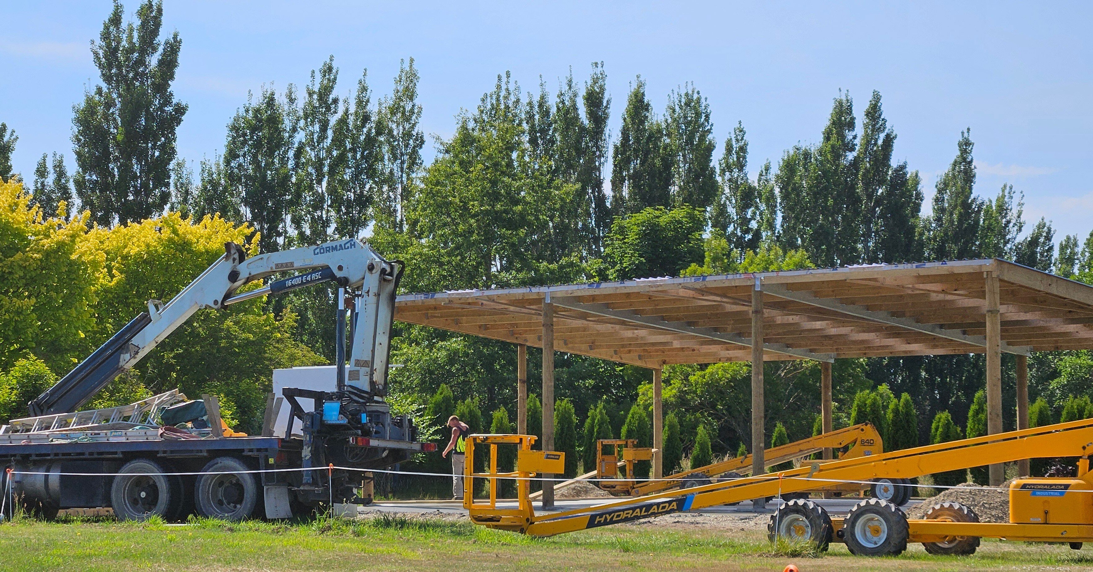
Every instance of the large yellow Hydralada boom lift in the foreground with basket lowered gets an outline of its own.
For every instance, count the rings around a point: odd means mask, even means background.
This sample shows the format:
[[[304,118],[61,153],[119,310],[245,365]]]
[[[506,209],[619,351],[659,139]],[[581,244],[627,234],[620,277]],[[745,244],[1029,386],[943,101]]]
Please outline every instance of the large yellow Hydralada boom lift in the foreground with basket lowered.
[[[969,555],[980,537],[1010,540],[1069,543],[1080,548],[1093,541],[1093,419],[1049,425],[936,445],[905,449],[880,455],[821,463],[777,474],[712,482],[678,491],[609,502],[571,511],[536,514],[528,498],[528,479],[540,473],[564,472],[564,454],[532,451],[532,436],[483,434],[468,437],[463,507],[474,524],[532,536],[595,528],[638,519],[659,516],[775,497],[812,489],[816,482],[865,481],[880,477],[915,478],[931,473],[979,465],[1008,463],[1030,457],[1080,457],[1078,477],[1022,478],[1010,485],[1008,523],[980,523],[975,512],[955,502],[931,508],[922,520],[908,520],[895,504],[867,499],[846,519],[832,519],[820,505],[796,499],[783,503],[767,527],[771,538],[815,543],[825,549],[832,541],[846,543],[855,555],[883,556],[903,552],[907,543],[922,543],[931,553]],[[516,446],[515,472],[500,473],[497,446]],[[475,451],[491,451],[486,473],[473,473]],[[518,478],[516,507],[497,507],[498,478]],[[474,480],[490,480],[489,500],[472,497]]]

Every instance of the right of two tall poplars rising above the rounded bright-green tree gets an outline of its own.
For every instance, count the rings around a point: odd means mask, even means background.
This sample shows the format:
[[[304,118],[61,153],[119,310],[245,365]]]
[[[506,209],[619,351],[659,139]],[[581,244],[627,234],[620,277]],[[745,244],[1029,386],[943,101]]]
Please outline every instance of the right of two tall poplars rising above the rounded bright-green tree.
[[[705,211],[717,198],[717,170],[714,168],[714,126],[709,102],[694,87],[685,85],[668,96],[665,133],[672,153],[672,204],[691,205]]]

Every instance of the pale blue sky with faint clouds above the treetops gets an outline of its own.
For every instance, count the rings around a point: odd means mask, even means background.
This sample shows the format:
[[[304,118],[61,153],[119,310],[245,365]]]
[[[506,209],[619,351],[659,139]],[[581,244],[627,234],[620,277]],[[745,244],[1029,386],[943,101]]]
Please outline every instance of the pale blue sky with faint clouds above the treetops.
[[[136,5],[127,2],[130,14]],[[17,171],[30,176],[45,152],[71,164],[71,107],[98,81],[89,41],[109,11],[103,0],[0,1],[0,121],[19,134]],[[330,55],[341,92],[366,68],[378,94],[412,56],[423,129],[442,138],[497,73],[510,70],[525,91],[542,75],[553,92],[571,67],[583,80],[602,60],[615,133],[636,74],[658,108],[694,82],[718,141],[743,121],[754,176],[764,159],[820,138],[841,88],[859,117],[878,90],[896,158],[924,175],[927,196],[971,127],[979,194],[1011,182],[1026,218],[1047,216],[1057,238],[1093,228],[1089,3],[167,0],[164,12],[183,38],[175,87],[190,106],[178,138],[188,159],[223,146],[248,90],[301,85]]]

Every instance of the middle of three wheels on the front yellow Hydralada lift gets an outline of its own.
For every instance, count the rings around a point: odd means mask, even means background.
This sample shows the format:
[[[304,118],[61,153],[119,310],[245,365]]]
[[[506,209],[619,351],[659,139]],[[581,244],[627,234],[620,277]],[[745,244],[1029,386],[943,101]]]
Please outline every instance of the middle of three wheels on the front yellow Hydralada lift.
[[[855,504],[843,532],[851,555],[894,556],[907,549],[907,515],[885,500],[866,499]]]

